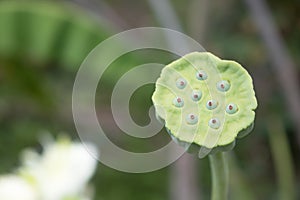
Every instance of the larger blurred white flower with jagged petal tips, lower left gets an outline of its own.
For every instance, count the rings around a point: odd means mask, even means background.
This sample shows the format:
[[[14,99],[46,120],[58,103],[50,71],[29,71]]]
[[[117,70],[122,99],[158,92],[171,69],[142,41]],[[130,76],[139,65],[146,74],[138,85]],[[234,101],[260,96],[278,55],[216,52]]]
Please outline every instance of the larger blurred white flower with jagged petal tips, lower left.
[[[93,146],[88,149],[95,155]],[[21,174],[35,180],[40,199],[88,199],[83,194],[97,161],[81,143],[66,139],[51,143],[45,147],[43,155],[27,150],[23,162]]]

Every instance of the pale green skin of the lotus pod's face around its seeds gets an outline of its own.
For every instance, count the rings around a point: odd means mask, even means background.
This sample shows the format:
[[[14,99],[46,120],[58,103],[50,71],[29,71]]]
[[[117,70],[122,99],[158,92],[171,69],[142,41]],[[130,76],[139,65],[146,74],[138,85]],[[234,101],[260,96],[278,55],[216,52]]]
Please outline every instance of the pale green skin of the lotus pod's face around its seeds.
[[[197,72],[205,72],[205,80],[197,78]],[[176,80],[187,81],[184,89],[176,87]],[[228,81],[228,90],[220,90],[220,81]],[[227,87],[227,86],[226,86]],[[200,90],[202,97],[193,101],[193,90]],[[174,107],[175,96],[185,99],[183,107]],[[214,109],[207,108],[210,100],[218,102]],[[236,138],[246,136],[254,124],[257,101],[252,78],[237,62],[221,60],[208,52],[193,52],[170,63],[161,72],[152,96],[156,116],[165,124],[168,133],[179,144],[189,150],[199,147],[215,151],[227,151],[235,146]],[[226,112],[234,103],[238,109]],[[228,109],[228,108],[227,108]],[[197,115],[198,123],[184,120],[190,113]],[[218,119],[219,128],[212,128],[212,119]]]

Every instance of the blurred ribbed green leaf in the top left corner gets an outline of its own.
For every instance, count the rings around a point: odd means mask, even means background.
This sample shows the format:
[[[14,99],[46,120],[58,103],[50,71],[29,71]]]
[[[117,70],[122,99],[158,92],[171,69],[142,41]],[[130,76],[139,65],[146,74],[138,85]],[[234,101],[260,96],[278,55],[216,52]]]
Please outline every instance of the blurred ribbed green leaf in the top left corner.
[[[34,63],[57,62],[71,69],[109,31],[83,10],[47,1],[0,3],[0,55]]]

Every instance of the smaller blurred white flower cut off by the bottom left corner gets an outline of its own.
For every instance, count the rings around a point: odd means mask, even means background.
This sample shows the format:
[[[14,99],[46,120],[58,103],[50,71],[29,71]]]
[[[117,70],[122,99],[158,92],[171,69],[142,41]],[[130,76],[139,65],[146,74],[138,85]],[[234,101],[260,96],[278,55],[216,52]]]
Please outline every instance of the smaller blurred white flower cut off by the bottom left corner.
[[[38,191],[27,180],[16,175],[0,177],[1,200],[39,200]]]

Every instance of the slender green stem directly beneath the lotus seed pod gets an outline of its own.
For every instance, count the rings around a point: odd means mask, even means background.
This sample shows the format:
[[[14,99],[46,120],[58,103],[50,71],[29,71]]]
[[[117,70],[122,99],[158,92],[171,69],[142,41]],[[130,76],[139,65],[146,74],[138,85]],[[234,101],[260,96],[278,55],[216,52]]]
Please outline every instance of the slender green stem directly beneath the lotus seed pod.
[[[223,152],[209,156],[212,171],[212,200],[226,200],[228,197],[228,162]]]

